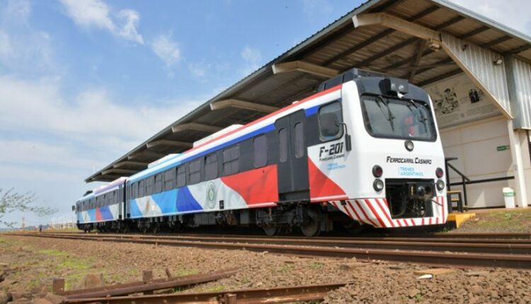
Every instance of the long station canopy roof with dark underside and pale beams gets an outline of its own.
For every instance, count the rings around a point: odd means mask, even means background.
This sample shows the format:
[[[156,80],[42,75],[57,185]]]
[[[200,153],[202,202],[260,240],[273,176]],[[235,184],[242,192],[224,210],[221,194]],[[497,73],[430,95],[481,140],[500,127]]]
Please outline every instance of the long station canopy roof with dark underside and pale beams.
[[[417,86],[462,72],[446,52],[379,24],[356,28],[353,16],[386,13],[484,49],[531,62],[531,38],[447,0],[370,0],[353,9],[159,131],[86,182],[130,176],[169,153],[181,153],[232,124],[246,124],[316,92],[319,83],[358,68],[409,79]]]

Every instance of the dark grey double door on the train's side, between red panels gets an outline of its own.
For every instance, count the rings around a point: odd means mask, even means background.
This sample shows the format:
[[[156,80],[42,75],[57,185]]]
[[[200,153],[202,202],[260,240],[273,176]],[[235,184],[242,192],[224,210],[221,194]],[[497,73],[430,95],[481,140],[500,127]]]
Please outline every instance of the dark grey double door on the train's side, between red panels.
[[[308,156],[304,110],[275,122],[278,132],[280,201],[309,200]]]

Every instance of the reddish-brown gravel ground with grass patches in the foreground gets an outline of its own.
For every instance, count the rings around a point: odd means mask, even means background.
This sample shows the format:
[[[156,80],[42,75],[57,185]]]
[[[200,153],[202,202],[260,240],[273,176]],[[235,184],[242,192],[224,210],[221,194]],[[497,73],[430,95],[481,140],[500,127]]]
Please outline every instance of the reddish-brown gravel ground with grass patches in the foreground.
[[[42,296],[58,277],[66,280],[69,290],[83,288],[87,274],[101,275],[105,284],[112,284],[140,281],[142,270],[161,278],[166,268],[182,276],[238,267],[228,279],[173,292],[350,282],[329,293],[325,303],[531,303],[531,271],[506,269],[455,269],[418,279],[413,272],[429,267],[7,235],[0,235],[0,262],[6,264],[0,266],[0,291],[13,293],[15,299]]]

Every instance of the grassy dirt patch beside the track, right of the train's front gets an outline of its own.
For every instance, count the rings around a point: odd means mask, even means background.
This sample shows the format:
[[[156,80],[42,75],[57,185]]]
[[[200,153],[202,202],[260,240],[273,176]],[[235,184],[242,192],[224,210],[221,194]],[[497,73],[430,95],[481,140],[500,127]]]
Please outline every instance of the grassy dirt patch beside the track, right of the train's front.
[[[474,212],[473,210],[470,212]],[[531,233],[531,208],[477,212],[476,217],[450,233]]]

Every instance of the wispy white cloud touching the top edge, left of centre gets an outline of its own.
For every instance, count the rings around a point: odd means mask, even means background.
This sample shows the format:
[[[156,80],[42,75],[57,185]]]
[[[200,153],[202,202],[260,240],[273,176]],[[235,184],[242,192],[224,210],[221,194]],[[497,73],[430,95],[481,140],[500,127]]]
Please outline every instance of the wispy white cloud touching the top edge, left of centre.
[[[132,9],[123,9],[116,18],[122,21],[119,27],[113,21],[112,9],[102,0],[59,0],[66,9],[67,16],[82,28],[99,28],[108,30],[113,35],[125,40],[144,44],[144,39],[137,31],[139,13]]]

